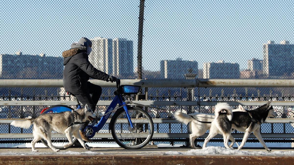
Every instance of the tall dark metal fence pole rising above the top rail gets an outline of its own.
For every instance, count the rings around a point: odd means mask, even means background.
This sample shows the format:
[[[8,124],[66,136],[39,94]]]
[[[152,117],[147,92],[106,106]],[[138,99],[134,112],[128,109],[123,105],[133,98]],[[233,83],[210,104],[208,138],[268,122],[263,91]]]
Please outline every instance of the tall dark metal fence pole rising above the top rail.
[[[138,27],[138,56],[137,56],[138,79],[142,79],[142,43],[143,43],[144,3],[145,3],[145,0],[140,0],[139,27]]]

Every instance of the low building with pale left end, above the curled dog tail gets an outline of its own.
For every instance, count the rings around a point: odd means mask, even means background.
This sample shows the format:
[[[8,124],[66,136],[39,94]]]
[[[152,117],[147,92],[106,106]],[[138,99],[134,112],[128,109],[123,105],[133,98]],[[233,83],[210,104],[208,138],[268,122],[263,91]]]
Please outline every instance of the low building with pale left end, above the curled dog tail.
[[[233,79],[240,78],[238,63],[224,63],[223,60],[217,63],[204,63],[203,78]]]

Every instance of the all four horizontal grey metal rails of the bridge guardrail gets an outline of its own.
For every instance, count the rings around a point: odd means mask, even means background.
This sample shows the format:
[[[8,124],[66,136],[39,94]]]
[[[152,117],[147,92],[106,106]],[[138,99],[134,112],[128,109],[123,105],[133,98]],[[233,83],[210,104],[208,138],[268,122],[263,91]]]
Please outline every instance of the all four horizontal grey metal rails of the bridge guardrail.
[[[90,80],[102,87],[115,87],[114,83]],[[294,87],[294,80],[248,80],[248,79],[195,79],[195,80],[121,80],[123,85],[140,85],[142,87]],[[62,80],[0,80],[0,87],[63,87]],[[149,106],[214,106],[216,101],[133,101]],[[229,105],[260,106],[266,101],[227,101]],[[99,101],[97,105],[110,105],[111,101]],[[25,105],[76,105],[75,101],[0,101],[0,106]],[[294,106],[294,101],[273,101],[273,106]],[[0,124],[9,124],[15,119],[0,119]],[[110,122],[107,121],[107,122]],[[153,119],[156,123],[178,123],[175,119]],[[266,119],[265,123],[294,123],[294,119]],[[97,138],[111,138],[111,134],[96,134]],[[202,137],[206,137],[207,134]],[[234,134],[235,138],[243,134]],[[266,133],[263,138],[294,138],[293,134]],[[254,135],[250,135],[254,138]],[[32,138],[31,134],[0,134],[0,138]],[[154,133],[153,138],[188,138],[188,134]]]

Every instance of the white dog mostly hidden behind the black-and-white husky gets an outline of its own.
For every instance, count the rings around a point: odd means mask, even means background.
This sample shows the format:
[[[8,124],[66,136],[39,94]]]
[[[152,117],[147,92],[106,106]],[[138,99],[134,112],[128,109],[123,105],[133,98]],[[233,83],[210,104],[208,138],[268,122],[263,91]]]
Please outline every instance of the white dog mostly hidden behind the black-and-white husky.
[[[246,112],[246,109],[243,108],[241,105],[239,105],[238,109],[233,110],[235,111],[241,111]],[[183,124],[187,124],[188,130],[189,130],[189,141],[192,148],[197,149],[198,147],[195,146],[194,141],[196,138],[201,137],[205,134],[207,130],[211,127],[212,122],[215,115],[214,114],[207,114],[207,113],[193,113],[190,115],[183,114],[181,110],[178,110],[174,113],[174,117],[176,120]],[[198,120],[198,121],[197,121]],[[200,122],[201,121],[201,122]],[[208,122],[208,123],[205,123]],[[230,136],[230,140],[232,143],[230,144],[230,147],[232,147],[235,143],[235,139]]]

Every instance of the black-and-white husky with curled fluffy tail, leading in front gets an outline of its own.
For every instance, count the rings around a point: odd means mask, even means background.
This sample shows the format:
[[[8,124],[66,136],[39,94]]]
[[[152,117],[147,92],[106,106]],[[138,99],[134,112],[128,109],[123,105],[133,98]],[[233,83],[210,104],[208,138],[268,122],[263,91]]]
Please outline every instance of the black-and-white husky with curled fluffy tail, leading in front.
[[[251,132],[263,145],[267,151],[271,151],[263,141],[260,135],[260,124],[262,124],[268,117],[276,117],[277,114],[273,111],[273,107],[268,102],[261,107],[256,108],[255,110],[248,110],[246,112],[232,112],[230,107],[227,107],[227,103],[218,103],[216,105],[215,114],[216,117],[211,123],[211,128],[208,137],[205,139],[203,147],[206,147],[207,142],[213,138],[216,134],[223,134],[224,136],[224,145],[228,147],[228,139],[225,137],[230,134],[231,129],[236,129],[240,132],[244,132],[242,143],[238,147],[240,150],[246,140],[248,139]]]

